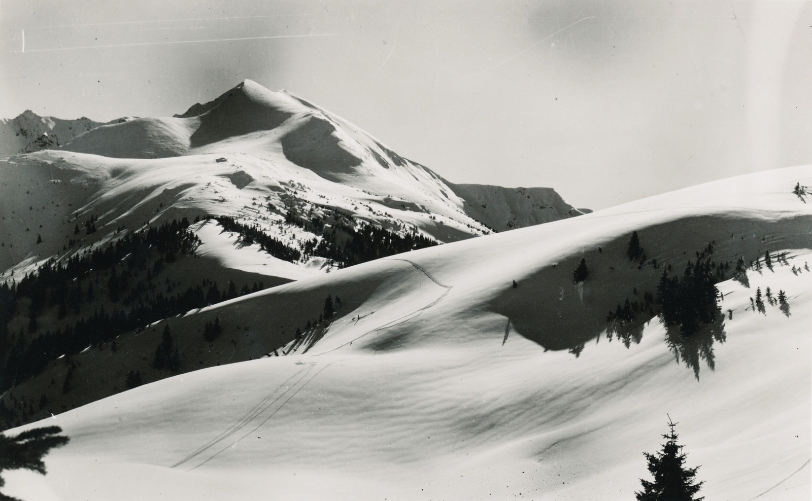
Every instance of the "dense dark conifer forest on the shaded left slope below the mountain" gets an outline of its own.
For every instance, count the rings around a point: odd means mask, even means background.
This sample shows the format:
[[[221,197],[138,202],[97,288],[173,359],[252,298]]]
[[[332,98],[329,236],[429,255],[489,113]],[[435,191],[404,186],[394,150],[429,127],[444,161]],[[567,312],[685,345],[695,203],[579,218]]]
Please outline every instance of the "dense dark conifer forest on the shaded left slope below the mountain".
[[[41,373],[62,355],[69,360],[89,346],[101,348],[106,343],[115,351],[115,338],[124,332],[264,288],[255,283],[238,289],[232,281],[221,291],[214,280],[204,278],[199,285],[172,294],[174,282],[167,276],[166,289],[159,290],[163,285],[152,283],[155,276],[199,243],[188,226],[186,218],[166,222],[119,238],[105,249],[51,260],[19,283],[0,285],[0,392]],[[100,283],[104,271],[109,271],[109,278]],[[136,280],[139,274],[142,280]],[[37,319],[49,307],[58,310],[58,324],[62,325],[41,332]],[[89,307],[94,308],[92,313]],[[24,328],[11,332],[9,323],[15,315],[28,318],[28,333]],[[63,392],[69,391],[67,378]],[[5,400],[11,405],[0,401],[3,426],[22,424],[35,410],[33,402]]]

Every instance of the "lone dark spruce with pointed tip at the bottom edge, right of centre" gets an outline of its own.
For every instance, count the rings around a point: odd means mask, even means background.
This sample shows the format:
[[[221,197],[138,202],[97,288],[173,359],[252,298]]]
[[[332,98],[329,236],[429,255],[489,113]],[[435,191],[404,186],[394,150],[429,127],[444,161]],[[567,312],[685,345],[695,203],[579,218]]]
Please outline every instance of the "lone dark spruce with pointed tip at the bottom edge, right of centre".
[[[677,423],[671,421],[668,417],[668,426],[671,432],[663,435],[663,439],[667,442],[663,443],[663,451],[656,454],[646,455],[646,460],[649,461],[649,472],[654,475],[654,482],[648,482],[640,479],[643,484],[641,492],[635,492],[637,501],[702,501],[705,499],[694,498],[693,495],[697,494],[702,489],[702,484],[705,482],[694,483],[697,476],[696,468],[685,468],[685,457],[687,456],[682,452],[682,445],[676,443],[677,435],[674,432],[674,426]]]

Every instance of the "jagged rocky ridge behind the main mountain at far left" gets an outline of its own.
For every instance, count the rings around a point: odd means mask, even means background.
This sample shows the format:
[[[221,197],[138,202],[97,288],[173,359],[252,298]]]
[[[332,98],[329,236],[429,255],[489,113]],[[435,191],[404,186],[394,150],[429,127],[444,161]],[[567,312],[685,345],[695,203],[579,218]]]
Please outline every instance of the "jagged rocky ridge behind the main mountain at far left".
[[[0,156],[59,148],[77,135],[102,125],[84,117],[76,120],[41,117],[26,109],[16,118],[0,118]]]

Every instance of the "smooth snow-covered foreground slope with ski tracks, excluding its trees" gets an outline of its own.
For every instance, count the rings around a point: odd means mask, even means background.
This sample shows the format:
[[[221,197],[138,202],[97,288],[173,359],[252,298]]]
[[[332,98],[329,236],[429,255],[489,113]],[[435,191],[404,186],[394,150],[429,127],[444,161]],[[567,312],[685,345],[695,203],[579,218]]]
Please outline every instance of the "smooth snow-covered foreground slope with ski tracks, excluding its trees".
[[[209,353],[267,349],[280,328],[318,315],[327,294],[345,306],[287,357],[163,379],[32,425],[62,426],[71,443],[48,456],[47,477],[8,475],[6,493],[630,499],[668,413],[689,465],[702,465],[708,501],[808,499],[812,205],[792,191],[810,178],[806,166],[713,182],[170,319],[173,332],[194,332],[217,315],[227,335]],[[643,263],[626,256],[633,231]],[[680,275],[711,242],[716,266],[784,252],[786,264],[720,283],[725,315],[694,335],[699,345],[669,346],[673,332],[657,319],[628,348],[607,342],[608,310],[654,292],[669,265]],[[590,275],[578,285],[581,259]],[[785,313],[751,307],[767,287],[786,293]],[[689,357],[677,363],[672,349]],[[698,376],[682,366],[692,350]]]

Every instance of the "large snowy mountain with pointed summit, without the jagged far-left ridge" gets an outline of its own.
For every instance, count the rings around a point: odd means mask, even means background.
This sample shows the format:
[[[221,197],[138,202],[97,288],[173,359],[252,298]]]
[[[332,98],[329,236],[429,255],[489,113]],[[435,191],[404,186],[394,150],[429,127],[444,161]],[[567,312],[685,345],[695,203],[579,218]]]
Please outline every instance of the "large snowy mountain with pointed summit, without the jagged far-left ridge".
[[[326,109],[253,80],[174,117],[94,124],[61,148],[45,146],[61,152],[12,157],[3,166],[19,186],[48,188],[6,197],[14,223],[2,225],[10,225],[4,233],[14,250],[0,257],[2,270],[24,272],[60,249],[70,255],[115,240],[122,227],[209,214],[256,227],[291,250],[234,259],[217,249],[234,246],[238,235],[197,228],[208,235],[203,252],[227,268],[264,266],[265,274],[295,280],[330,270],[323,260],[335,253],[319,246],[336,225],[455,242],[581,214],[550,188],[454,185]],[[63,203],[50,211],[51,199]],[[98,233],[71,242],[70,230],[91,217]],[[54,225],[61,238],[28,238],[32,228]]]

